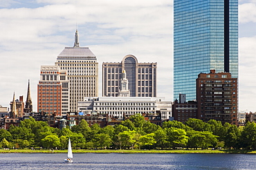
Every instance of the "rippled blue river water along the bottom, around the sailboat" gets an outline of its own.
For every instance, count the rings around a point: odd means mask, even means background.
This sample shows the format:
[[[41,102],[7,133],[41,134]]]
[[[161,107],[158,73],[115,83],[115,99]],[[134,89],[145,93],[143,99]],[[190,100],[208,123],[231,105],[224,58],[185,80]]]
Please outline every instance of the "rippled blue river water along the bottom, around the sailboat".
[[[0,169],[256,169],[256,154],[0,153]]]

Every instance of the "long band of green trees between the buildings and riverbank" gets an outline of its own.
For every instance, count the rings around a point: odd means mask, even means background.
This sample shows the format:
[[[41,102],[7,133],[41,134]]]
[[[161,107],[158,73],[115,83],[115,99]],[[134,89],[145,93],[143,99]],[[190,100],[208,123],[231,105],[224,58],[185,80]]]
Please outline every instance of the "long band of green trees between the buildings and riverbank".
[[[44,148],[66,149],[68,138],[76,149],[253,149],[256,150],[256,124],[248,122],[244,128],[221,124],[216,120],[203,122],[190,118],[185,124],[163,122],[163,126],[132,115],[115,126],[91,127],[85,120],[64,129],[48,126],[32,117],[19,126],[0,129],[0,147],[9,149]]]

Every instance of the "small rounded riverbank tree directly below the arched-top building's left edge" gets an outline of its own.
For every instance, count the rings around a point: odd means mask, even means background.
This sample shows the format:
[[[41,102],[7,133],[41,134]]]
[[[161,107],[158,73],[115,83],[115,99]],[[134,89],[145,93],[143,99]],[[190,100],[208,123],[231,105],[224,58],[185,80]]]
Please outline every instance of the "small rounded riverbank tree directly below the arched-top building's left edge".
[[[95,147],[100,147],[100,148],[109,148],[112,144],[112,140],[109,137],[109,134],[105,133],[100,133],[95,135],[95,138],[93,139],[93,144]]]

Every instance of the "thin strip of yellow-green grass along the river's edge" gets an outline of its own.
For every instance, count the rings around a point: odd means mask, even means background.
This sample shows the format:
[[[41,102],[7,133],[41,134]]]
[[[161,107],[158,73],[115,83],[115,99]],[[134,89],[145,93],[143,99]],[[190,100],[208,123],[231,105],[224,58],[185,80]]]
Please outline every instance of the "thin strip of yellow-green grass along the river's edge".
[[[37,149],[0,149],[0,153],[67,153],[67,150],[37,150]],[[246,150],[210,150],[210,149],[191,149],[191,150],[109,150],[109,149],[97,149],[97,150],[85,150],[85,149],[73,149],[73,153],[256,153],[256,151]]]

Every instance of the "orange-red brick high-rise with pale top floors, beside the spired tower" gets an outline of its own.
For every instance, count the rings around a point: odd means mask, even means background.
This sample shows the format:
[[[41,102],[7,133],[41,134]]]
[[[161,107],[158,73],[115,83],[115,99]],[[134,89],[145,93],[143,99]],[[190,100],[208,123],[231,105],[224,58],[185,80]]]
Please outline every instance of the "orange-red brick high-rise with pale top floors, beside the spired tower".
[[[37,111],[66,115],[69,111],[69,81],[59,66],[41,66],[37,85]]]

